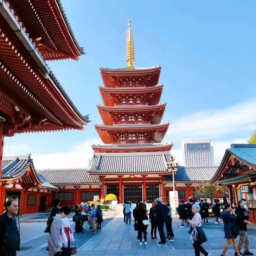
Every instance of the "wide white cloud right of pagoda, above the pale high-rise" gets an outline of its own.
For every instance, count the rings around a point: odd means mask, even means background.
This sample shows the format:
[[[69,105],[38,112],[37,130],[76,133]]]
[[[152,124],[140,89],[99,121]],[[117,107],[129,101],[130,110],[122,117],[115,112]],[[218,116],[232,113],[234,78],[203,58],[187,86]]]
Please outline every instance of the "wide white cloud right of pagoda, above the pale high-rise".
[[[256,99],[215,111],[201,111],[171,122],[168,135],[185,139],[221,137],[233,131],[254,131]]]

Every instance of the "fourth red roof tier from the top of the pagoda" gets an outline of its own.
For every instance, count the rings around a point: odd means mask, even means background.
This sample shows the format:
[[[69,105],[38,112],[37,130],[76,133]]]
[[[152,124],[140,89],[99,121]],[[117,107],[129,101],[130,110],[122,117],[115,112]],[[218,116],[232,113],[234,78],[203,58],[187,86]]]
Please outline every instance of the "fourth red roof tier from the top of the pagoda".
[[[158,125],[146,125],[146,124],[136,124],[136,125],[98,125],[95,124],[94,127],[99,134],[102,142],[105,144],[111,144],[113,142],[113,136],[118,136],[119,133],[150,133],[151,139],[155,143],[160,143],[166,131],[169,128],[170,123],[163,123]]]

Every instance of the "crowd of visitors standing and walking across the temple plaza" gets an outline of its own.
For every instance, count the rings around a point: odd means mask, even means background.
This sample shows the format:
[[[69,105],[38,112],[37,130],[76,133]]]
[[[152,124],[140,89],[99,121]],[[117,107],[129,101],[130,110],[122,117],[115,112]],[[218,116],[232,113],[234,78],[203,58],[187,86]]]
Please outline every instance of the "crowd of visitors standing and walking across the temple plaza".
[[[161,203],[160,198],[152,202],[152,207],[148,210],[146,201],[142,199],[136,204],[126,201],[124,208],[124,224],[131,224],[131,216],[134,218],[134,230],[137,231],[137,241],[140,245],[147,244],[147,228],[151,223],[151,240],[157,240],[157,230],[160,236],[159,244],[165,244],[166,241],[174,241],[174,233],[172,230],[172,207],[169,201]],[[191,212],[188,211],[191,205]],[[215,205],[216,204],[216,205]],[[219,202],[215,201],[215,207],[219,207],[220,214],[215,218],[221,218],[224,223],[224,238],[226,244],[221,256],[225,256],[230,244],[233,244],[235,256],[252,256],[253,253],[249,250],[249,238],[247,234],[247,225],[250,225],[250,210],[247,207],[247,202],[241,199],[236,209],[233,209],[227,201],[224,201],[222,207]],[[214,207],[214,205],[212,207]],[[73,230],[70,227],[70,222],[67,216],[71,212],[69,206],[59,208],[60,201],[55,200],[55,206],[47,220],[47,228],[45,232],[49,232],[48,250],[49,256],[61,255],[71,256],[71,252],[75,248],[75,240]],[[222,208],[222,211],[221,211]],[[20,224],[18,213],[18,202],[16,199],[10,199],[4,204],[5,212],[0,216],[0,256],[16,256],[16,251],[20,249]],[[83,211],[83,212],[82,212]],[[207,241],[204,233],[203,223],[207,224],[209,205],[205,200],[199,202],[181,202],[177,211],[181,211],[183,221],[190,225],[189,234],[192,245],[195,250],[195,256],[209,256],[202,244]],[[182,212],[184,211],[184,212]],[[88,216],[88,224],[92,232],[101,230],[102,210],[92,204],[80,204],[76,207],[75,222],[77,225],[75,232],[82,232],[81,226],[83,216]],[[98,221],[99,218],[99,221]],[[186,219],[184,219],[186,218]],[[77,220],[77,221],[76,221]],[[92,221],[93,220],[93,221]],[[215,219],[215,221],[218,221]],[[164,233],[164,225],[166,226],[167,234]],[[183,224],[184,225],[184,224]],[[181,227],[183,227],[183,225]],[[237,244],[237,237],[239,243]],[[241,252],[242,247],[244,251]],[[73,254],[73,253],[72,253]]]

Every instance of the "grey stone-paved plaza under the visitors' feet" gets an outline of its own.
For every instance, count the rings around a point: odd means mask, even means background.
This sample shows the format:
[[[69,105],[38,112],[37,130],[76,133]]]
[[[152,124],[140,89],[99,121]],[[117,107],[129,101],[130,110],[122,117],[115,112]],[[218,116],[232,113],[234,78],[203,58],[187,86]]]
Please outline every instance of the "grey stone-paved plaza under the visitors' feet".
[[[34,215],[30,218],[21,218],[21,250],[17,256],[47,256],[45,249],[47,247],[47,234],[44,233],[46,219],[49,214]],[[150,240],[150,227],[148,227],[148,244],[140,246],[137,237],[131,225],[125,226],[122,213],[106,212],[104,215],[102,231],[91,234],[74,233],[77,255],[99,256],[107,255],[138,255],[138,256],[156,256],[168,255],[174,256],[192,256],[195,255],[188,234],[189,227],[180,228],[179,221],[175,217],[173,221],[175,241],[172,243],[158,244],[159,241]],[[71,227],[74,227],[73,221],[70,221]],[[209,225],[204,225],[204,231],[208,241],[204,243],[204,248],[211,253],[211,256],[220,256],[225,244],[223,224],[216,225],[210,219]],[[256,253],[256,230],[248,231],[250,237],[250,249]],[[157,236],[159,237],[158,233]],[[234,254],[233,247],[226,254]]]

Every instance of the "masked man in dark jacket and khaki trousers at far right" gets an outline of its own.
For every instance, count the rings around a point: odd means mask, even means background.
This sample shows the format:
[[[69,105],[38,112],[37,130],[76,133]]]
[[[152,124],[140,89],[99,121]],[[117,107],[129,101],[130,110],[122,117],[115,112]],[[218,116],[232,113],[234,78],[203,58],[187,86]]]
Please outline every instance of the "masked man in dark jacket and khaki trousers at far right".
[[[253,255],[249,250],[249,238],[247,235],[247,224],[251,224],[249,221],[250,212],[244,200],[238,202],[236,208],[236,224],[241,229],[240,239],[238,243],[238,250],[241,255]],[[244,253],[241,253],[241,248],[244,245]]]

